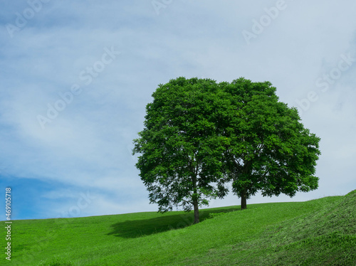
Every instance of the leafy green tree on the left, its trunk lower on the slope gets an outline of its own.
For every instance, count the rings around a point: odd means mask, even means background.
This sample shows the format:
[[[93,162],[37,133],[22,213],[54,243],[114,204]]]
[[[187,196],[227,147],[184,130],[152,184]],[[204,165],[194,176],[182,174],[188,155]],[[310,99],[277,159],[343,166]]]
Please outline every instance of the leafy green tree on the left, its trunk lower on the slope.
[[[137,169],[159,212],[194,208],[226,195],[223,155],[227,138],[219,134],[221,108],[229,106],[215,81],[177,78],[159,85],[146,107],[145,128],[134,139]]]

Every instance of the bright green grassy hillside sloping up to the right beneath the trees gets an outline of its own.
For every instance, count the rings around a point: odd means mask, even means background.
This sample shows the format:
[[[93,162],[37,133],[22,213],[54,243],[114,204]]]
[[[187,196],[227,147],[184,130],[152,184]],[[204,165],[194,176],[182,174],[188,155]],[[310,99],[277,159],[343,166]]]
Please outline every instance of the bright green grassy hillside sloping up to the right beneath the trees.
[[[356,265],[356,191],[295,203],[14,220],[1,265]],[[6,247],[5,240],[2,246]]]

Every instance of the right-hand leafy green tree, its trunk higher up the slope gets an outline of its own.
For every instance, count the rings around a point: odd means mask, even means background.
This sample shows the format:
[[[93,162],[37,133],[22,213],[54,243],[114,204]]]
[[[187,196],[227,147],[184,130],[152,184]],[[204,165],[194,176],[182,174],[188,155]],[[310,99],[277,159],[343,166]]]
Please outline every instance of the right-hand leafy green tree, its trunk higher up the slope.
[[[292,197],[297,191],[318,188],[314,174],[320,138],[303,127],[295,108],[278,102],[276,88],[244,78],[220,87],[232,106],[219,126],[229,139],[225,181],[232,181],[241,209],[257,191]]]

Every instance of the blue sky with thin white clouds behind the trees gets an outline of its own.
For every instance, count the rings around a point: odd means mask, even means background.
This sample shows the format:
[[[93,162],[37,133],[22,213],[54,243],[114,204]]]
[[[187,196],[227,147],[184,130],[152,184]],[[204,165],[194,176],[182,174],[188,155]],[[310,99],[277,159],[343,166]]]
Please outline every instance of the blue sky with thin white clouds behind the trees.
[[[321,138],[317,190],[248,204],[356,189],[355,10],[351,0],[6,3],[0,195],[11,188],[11,218],[157,211],[132,139],[157,86],[182,76],[268,80]],[[209,208],[239,203],[229,194]]]

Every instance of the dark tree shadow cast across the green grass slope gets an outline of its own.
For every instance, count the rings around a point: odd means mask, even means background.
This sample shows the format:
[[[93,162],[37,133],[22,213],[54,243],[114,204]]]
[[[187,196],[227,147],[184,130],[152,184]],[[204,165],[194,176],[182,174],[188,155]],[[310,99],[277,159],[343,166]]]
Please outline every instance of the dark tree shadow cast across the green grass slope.
[[[210,213],[228,213],[237,211],[239,208],[226,208],[223,210],[201,210],[199,211],[200,222],[209,218]],[[172,229],[185,228],[194,222],[194,213],[181,213],[177,215],[162,215],[157,218],[145,220],[125,220],[125,222],[111,225],[112,232],[108,235],[115,235],[120,238],[140,238],[143,235],[152,235]]]

